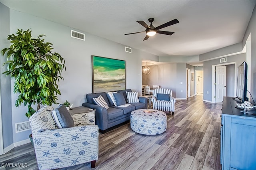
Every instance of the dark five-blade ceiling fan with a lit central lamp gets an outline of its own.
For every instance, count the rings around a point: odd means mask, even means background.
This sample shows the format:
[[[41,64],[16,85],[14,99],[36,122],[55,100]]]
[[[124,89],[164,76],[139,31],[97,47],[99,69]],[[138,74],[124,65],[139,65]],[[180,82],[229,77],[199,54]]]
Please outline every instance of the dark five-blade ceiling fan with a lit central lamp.
[[[140,25],[144,26],[146,28],[146,37],[144,38],[144,40],[148,40],[148,38],[150,36],[154,36],[156,33],[158,34],[165,34],[165,35],[172,35],[174,32],[168,32],[168,31],[159,31],[160,29],[162,28],[165,28],[165,27],[168,27],[168,26],[171,26],[173,24],[177,24],[179,23],[179,21],[177,19],[174,19],[174,20],[171,20],[169,22],[166,22],[165,24],[162,24],[158,27],[154,27],[152,25],[152,22],[154,21],[154,18],[149,18],[148,21],[150,22],[150,26],[148,26],[148,24],[146,24],[144,21],[137,21]],[[141,32],[144,32],[144,31],[141,31]],[[134,33],[130,33],[130,34],[137,34],[137,33],[141,33],[141,32],[134,32]],[[130,35],[130,34],[124,34],[124,35]],[[143,41],[144,41],[143,40]]]

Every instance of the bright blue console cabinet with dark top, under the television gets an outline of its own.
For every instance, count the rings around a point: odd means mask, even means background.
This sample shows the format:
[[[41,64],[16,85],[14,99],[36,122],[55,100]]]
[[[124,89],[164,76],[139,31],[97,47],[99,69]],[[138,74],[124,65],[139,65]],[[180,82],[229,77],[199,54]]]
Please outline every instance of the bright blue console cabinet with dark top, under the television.
[[[256,170],[255,110],[242,113],[238,99],[224,97],[221,120],[220,163],[222,170]]]

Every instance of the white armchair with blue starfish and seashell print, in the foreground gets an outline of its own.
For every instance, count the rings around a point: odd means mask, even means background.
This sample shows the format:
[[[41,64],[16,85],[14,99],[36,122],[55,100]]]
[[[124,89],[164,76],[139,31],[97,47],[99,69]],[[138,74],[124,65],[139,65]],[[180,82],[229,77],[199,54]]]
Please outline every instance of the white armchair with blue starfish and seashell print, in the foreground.
[[[98,160],[98,126],[92,115],[71,115],[74,127],[58,128],[51,106],[44,106],[29,121],[39,170],[63,168]],[[78,125],[78,126],[76,126]]]

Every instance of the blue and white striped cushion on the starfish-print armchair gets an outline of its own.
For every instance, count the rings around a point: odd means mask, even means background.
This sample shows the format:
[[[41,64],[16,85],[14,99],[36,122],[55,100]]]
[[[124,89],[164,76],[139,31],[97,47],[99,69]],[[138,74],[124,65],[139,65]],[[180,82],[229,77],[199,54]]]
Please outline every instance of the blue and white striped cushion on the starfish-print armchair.
[[[63,104],[52,111],[52,117],[58,128],[74,127],[74,120]]]

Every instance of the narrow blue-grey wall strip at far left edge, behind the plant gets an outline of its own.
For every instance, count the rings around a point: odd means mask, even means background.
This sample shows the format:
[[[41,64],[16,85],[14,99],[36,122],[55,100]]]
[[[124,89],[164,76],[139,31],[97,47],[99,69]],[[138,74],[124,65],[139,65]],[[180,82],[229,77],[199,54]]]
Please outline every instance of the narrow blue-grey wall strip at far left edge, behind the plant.
[[[10,13],[9,8],[0,3],[0,50],[10,46],[6,37],[10,32]],[[6,62],[6,58],[2,57],[0,54],[0,66]],[[2,130],[3,130],[3,145],[4,148],[13,143],[12,135],[12,99],[11,99],[11,79],[6,77],[2,73],[6,71],[6,66],[4,69],[0,69],[0,83],[1,83],[1,112],[2,112]],[[2,137],[2,136],[1,136]]]

